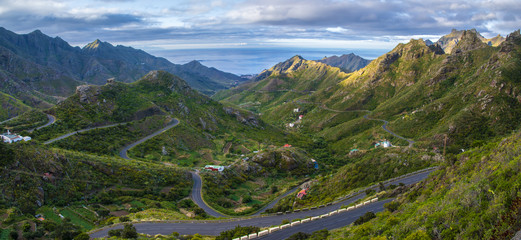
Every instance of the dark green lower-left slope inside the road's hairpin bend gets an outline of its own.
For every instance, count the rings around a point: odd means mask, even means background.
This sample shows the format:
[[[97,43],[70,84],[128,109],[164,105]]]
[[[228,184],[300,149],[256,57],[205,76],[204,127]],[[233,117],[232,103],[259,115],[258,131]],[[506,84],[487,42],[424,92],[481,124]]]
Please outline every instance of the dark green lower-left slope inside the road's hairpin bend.
[[[154,215],[158,211],[186,218],[176,202],[188,196],[191,176],[173,166],[30,143],[0,142],[0,159],[1,226],[24,229],[22,223],[37,223],[38,231],[23,230],[32,238],[64,238],[60,236],[67,232],[75,236],[125,221],[118,217],[129,213],[130,219],[161,219]],[[36,214],[45,220],[37,221]]]

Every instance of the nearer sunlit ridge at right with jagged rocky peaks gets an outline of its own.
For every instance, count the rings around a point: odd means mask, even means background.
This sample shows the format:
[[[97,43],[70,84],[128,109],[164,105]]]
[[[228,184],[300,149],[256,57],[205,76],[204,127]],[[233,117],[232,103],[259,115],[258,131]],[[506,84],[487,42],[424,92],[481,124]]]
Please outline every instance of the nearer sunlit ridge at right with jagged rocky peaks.
[[[401,44],[344,80],[327,102],[334,109],[371,109],[395,120],[398,134],[434,136],[437,147],[440,134],[459,148],[479,144],[474,141],[517,128],[511,121],[519,109],[512,92],[518,77],[504,75],[518,58],[517,35],[494,48],[465,31],[450,55],[420,40]],[[481,124],[470,127],[473,122]]]

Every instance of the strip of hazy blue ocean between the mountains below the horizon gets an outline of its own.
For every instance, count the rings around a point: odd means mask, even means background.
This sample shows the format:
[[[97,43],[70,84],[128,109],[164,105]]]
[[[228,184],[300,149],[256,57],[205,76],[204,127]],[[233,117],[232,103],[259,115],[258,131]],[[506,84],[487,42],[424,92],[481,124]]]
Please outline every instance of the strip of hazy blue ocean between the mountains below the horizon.
[[[365,59],[375,59],[391,49],[325,49],[325,48],[219,48],[219,49],[175,49],[155,50],[151,54],[164,57],[176,64],[192,60],[200,61],[208,67],[237,75],[258,74],[264,69],[283,62],[295,55],[308,60],[318,60],[325,56],[340,56],[354,53]]]

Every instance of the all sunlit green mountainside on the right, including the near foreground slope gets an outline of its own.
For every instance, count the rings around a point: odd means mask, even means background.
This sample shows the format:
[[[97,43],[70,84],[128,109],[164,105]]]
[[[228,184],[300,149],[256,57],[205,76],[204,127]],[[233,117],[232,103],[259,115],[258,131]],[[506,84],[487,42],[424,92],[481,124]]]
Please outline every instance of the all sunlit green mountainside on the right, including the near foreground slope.
[[[352,73],[295,56],[214,97],[322,138],[333,157],[320,161],[342,161],[278,211],[331,202],[415,165],[438,167],[411,189],[380,186],[377,196],[397,199],[328,239],[512,239],[521,228],[520,62],[519,30],[493,39],[454,30],[436,43],[398,44]],[[395,148],[376,148],[384,139]]]

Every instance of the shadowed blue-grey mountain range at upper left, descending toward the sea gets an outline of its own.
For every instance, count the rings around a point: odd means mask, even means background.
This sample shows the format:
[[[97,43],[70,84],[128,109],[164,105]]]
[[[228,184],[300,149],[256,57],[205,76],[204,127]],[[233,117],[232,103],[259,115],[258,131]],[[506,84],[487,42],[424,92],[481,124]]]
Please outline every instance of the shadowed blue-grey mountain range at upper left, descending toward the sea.
[[[165,70],[205,94],[243,79],[197,61],[179,65],[142,50],[95,40],[83,48],[36,30],[16,34],[0,28],[0,91],[30,106],[49,107],[82,83],[104,84],[115,78],[133,82],[151,70]]]

